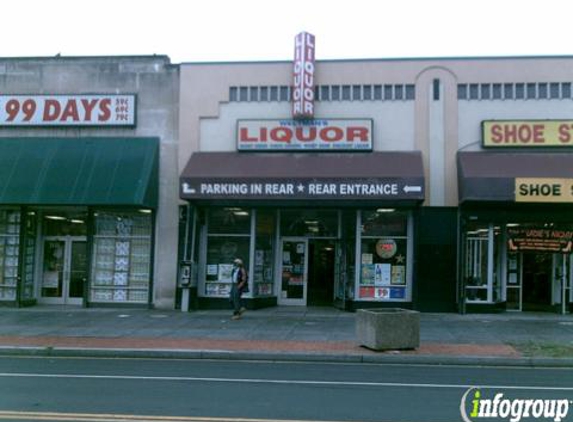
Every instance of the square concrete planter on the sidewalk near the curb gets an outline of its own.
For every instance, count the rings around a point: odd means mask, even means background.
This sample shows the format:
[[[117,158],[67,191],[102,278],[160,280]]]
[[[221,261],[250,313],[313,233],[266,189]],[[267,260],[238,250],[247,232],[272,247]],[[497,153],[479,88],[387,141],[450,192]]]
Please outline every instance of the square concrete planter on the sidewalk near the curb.
[[[420,313],[401,308],[359,309],[356,335],[373,350],[415,349],[420,346]]]

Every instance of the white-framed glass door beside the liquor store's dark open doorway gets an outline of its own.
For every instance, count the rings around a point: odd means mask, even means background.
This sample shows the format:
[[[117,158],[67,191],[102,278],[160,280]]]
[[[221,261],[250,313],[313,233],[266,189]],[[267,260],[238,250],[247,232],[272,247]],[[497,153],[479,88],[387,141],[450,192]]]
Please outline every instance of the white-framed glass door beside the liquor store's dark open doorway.
[[[306,306],[308,240],[285,237],[281,242],[281,287],[279,305]]]

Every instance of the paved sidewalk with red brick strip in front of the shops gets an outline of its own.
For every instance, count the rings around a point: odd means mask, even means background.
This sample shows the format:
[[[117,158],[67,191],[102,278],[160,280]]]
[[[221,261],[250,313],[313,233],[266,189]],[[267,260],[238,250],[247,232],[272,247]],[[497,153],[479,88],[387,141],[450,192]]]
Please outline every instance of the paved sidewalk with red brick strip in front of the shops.
[[[0,308],[0,354],[313,360],[573,367],[573,315],[422,313],[420,347],[358,344],[355,314],[334,308],[247,311]]]

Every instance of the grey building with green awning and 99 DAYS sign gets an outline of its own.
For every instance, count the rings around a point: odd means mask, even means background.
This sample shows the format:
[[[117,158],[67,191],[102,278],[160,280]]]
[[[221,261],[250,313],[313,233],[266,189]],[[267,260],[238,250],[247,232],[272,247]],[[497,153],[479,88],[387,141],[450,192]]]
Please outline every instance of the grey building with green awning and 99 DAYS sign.
[[[177,82],[160,56],[0,60],[0,305],[173,307]]]

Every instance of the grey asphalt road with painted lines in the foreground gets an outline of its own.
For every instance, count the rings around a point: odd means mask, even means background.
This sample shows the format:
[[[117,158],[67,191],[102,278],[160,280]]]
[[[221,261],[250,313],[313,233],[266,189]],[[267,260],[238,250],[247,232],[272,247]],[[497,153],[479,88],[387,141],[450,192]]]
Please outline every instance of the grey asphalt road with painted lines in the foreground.
[[[566,368],[45,357],[0,357],[0,420],[452,422],[472,387],[573,420]]]

